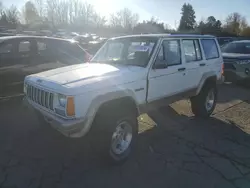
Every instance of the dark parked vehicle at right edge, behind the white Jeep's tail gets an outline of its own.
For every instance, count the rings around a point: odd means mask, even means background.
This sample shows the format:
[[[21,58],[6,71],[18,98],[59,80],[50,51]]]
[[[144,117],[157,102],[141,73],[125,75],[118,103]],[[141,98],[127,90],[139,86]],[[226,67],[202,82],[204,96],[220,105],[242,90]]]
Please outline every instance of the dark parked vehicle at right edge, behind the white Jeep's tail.
[[[233,41],[222,47],[225,81],[250,80],[250,40]]]

